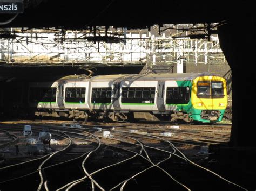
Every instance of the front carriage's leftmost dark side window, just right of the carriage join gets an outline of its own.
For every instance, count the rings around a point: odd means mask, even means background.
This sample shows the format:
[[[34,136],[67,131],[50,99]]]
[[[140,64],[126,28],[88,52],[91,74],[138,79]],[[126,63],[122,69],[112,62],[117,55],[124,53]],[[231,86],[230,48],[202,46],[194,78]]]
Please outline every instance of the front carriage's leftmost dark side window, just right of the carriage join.
[[[91,103],[110,103],[111,88],[92,88]]]

